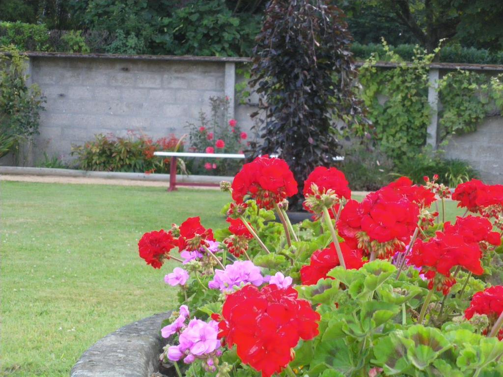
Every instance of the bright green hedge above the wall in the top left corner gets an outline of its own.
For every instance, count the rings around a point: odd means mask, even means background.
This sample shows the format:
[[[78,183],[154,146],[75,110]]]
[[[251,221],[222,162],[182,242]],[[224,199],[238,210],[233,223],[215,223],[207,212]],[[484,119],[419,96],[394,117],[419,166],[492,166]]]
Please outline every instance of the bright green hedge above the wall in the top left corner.
[[[49,31],[44,24],[0,22],[0,49],[14,45],[21,51],[47,51]]]

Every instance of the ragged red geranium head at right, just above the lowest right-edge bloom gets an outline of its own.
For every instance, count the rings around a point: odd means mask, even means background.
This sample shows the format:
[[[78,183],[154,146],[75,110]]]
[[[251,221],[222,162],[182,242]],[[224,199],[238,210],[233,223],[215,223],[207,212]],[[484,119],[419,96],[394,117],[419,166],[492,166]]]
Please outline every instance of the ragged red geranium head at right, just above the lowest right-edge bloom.
[[[480,263],[482,253],[476,243],[466,243],[463,235],[437,232],[428,242],[417,240],[412,247],[408,263],[421,267],[421,273],[430,280],[429,289],[437,288],[449,293],[456,280],[451,276],[454,266],[461,266],[475,275],[484,272]]]

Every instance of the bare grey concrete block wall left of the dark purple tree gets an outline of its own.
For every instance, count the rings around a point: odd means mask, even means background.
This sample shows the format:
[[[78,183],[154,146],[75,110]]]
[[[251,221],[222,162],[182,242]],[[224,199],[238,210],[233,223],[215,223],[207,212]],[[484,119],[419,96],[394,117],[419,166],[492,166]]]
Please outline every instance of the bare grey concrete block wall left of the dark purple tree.
[[[187,132],[209,114],[209,98],[227,95],[224,61],[180,61],[96,57],[30,57],[31,74],[47,99],[41,113],[34,162],[49,156],[70,159],[72,144],[95,134],[123,136],[128,130],[153,138]],[[229,96],[231,97],[231,96]],[[235,103],[244,130],[254,105]],[[232,116],[232,115],[231,115]]]

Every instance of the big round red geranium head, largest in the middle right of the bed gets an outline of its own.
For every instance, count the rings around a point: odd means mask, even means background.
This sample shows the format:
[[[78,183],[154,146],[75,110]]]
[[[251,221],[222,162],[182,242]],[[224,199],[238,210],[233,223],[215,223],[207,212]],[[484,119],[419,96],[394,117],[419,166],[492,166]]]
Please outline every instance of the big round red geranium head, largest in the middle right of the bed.
[[[385,186],[358,203],[349,201],[341,211],[339,234],[352,248],[387,259],[403,251],[417,226],[419,208],[396,186]]]

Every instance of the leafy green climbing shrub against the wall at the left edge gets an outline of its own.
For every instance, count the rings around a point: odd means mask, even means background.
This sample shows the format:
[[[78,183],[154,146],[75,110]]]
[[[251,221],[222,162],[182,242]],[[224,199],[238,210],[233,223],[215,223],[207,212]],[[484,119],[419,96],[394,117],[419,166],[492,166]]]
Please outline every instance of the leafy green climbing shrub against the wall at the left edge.
[[[26,84],[27,58],[13,46],[7,52],[0,53],[0,157],[38,134],[45,102],[38,85]]]

